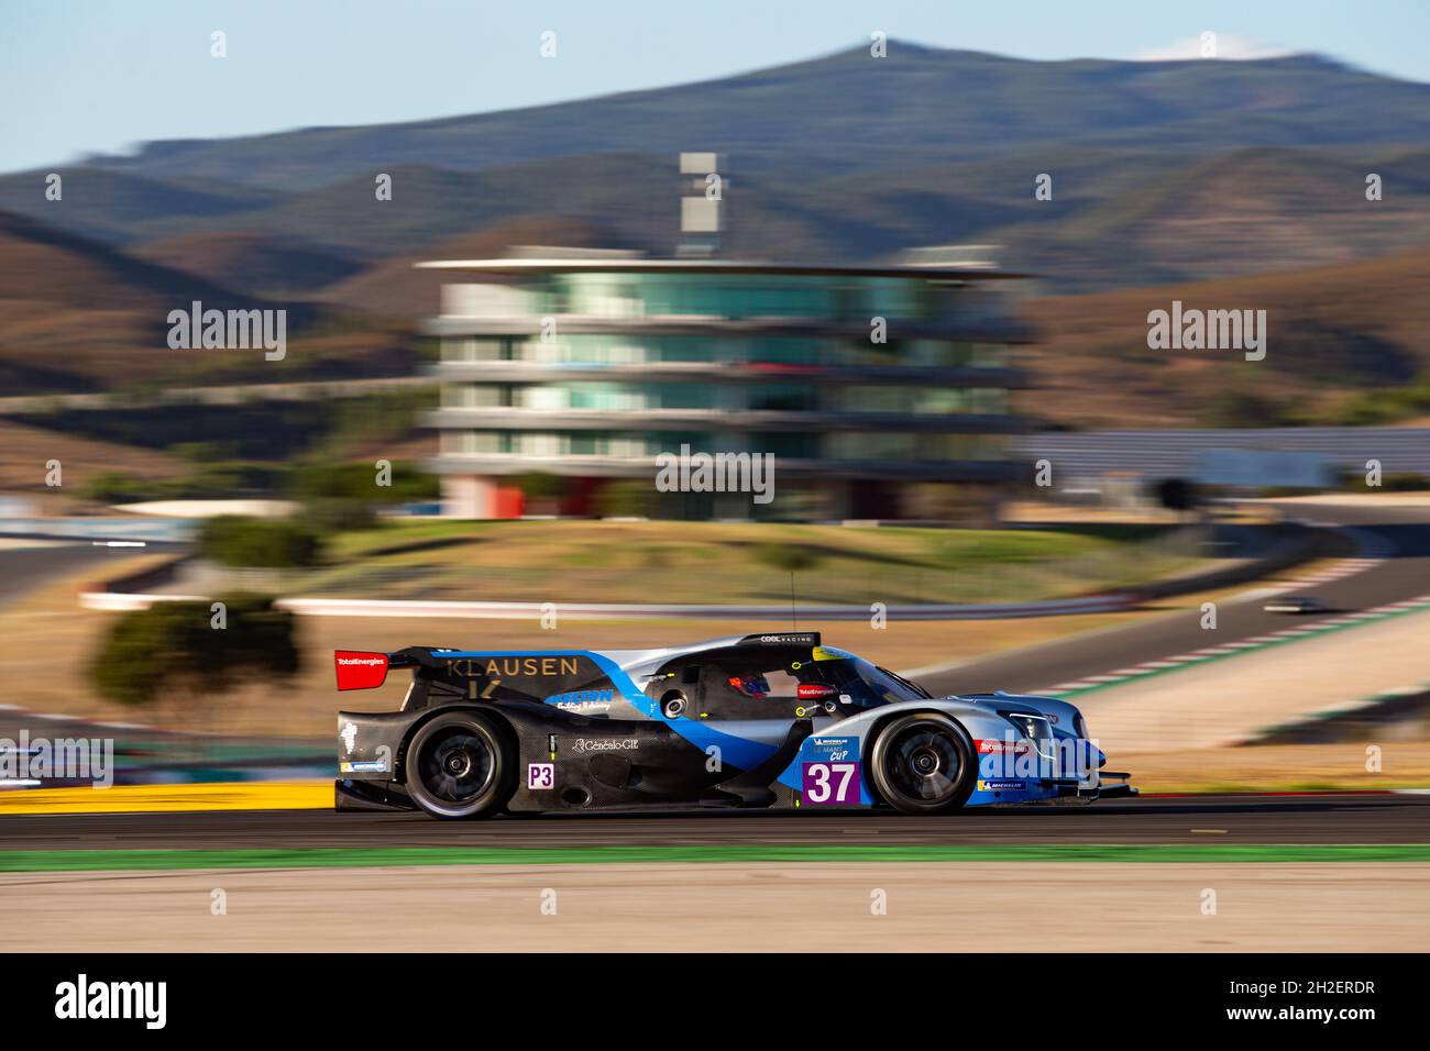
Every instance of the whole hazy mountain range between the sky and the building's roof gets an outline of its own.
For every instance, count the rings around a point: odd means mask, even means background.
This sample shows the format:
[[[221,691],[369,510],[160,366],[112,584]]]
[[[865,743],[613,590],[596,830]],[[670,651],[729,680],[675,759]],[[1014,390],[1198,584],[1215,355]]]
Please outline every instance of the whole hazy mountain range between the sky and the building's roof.
[[[1097,292],[1430,243],[1427,143],[1430,86],[1316,56],[1025,61],[894,41],[887,59],[861,47],[523,110],[152,143],[61,169],[61,202],[43,172],[0,177],[0,207],[246,292],[306,295],[513,222],[666,253],[675,154],[714,149],[726,255],[992,243],[1058,292]],[[1364,199],[1370,172],[1380,202]],[[1051,200],[1034,197],[1040,173]]]

